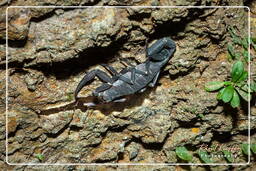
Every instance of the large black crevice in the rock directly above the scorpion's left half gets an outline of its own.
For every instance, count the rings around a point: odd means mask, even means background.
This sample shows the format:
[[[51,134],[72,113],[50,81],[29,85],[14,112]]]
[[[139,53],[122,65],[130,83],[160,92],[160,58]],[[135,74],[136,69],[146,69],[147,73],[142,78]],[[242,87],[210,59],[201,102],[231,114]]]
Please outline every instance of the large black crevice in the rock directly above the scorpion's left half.
[[[51,65],[41,63],[29,68],[42,71],[46,77],[54,75],[57,79],[67,79],[72,75],[77,75],[90,66],[108,63],[117,54],[117,51],[123,44],[124,40],[119,40],[113,42],[109,47],[86,49],[78,54],[77,58],[71,58],[63,62],[52,62]]]

